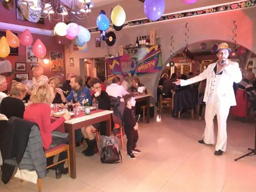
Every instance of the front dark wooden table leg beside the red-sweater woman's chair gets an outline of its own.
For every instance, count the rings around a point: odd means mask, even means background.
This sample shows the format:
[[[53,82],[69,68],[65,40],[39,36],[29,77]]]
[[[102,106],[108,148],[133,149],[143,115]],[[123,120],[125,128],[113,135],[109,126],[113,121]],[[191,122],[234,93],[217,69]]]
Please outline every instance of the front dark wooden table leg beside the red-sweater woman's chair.
[[[69,152],[70,152],[70,177],[76,179],[76,150],[75,150],[75,130],[71,124],[66,125],[69,130]]]

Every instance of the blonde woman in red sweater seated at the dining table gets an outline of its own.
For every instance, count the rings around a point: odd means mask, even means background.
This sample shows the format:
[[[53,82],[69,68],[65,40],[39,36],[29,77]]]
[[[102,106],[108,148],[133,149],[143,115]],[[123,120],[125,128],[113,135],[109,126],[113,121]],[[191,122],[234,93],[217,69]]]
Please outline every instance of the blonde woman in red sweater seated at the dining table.
[[[65,120],[70,119],[70,114],[65,113],[58,120],[51,123],[51,108],[50,104],[54,98],[53,89],[49,84],[42,84],[37,86],[31,92],[30,102],[32,104],[28,105],[25,113],[24,119],[36,122],[39,126],[42,138],[42,146],[45,150],[52,148],[60,143],[65,143],[68,141],[67,138],[59,138],[51,135],[61,123]],[[62,152],[59,154],[59,161],[66,159],[67,153]],[[68,174],[68,168],[64,168],[64,163],[59,163],[56,165],[56,179],[61,178],[61,174]],[[53,164],[53,157],[47,158],[47,165]]]

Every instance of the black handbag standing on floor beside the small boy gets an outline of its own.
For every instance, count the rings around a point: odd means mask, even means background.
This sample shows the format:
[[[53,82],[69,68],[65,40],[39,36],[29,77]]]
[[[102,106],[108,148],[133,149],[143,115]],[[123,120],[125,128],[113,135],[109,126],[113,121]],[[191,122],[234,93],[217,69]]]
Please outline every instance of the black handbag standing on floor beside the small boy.
[[[105,136],[102,140],[100,151],[101,163],[120,163],[122,162],[121,152],[118,150],[119,140],[115,136]]]

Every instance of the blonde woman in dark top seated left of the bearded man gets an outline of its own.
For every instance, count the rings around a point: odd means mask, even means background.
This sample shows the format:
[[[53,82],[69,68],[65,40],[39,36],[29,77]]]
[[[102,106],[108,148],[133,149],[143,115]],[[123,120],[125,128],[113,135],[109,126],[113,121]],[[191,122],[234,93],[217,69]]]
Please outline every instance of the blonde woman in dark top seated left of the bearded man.
[[[60,85],[60,82],[56,77],[49,78],[48,79],[48,84],[53,89],[53,93],[55,95],[52,103],[67,102],[67,99],[66,99],[63,91],[60,88],[58,88],[59,85]]]

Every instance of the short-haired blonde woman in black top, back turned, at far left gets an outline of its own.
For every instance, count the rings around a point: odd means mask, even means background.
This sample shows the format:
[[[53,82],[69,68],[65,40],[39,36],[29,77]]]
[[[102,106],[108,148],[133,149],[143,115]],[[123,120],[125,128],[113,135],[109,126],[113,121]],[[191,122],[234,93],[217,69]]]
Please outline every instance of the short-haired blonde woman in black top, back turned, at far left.
[[[8,119],[11,116],[19,117],[23,119],[23,114],[25,111],[25,105],[22,99],[27,93],[27,87],[21,82],[16,82],[12,84],[10,96],[5,97],[0,105],[0,111]]]

